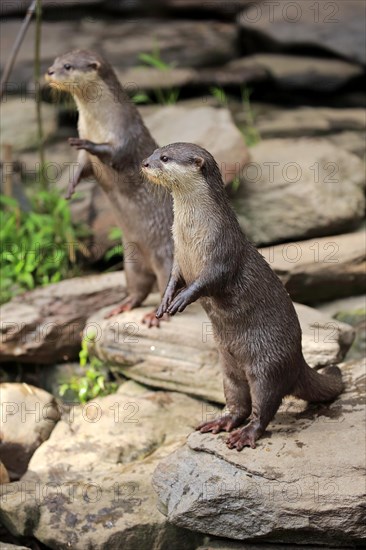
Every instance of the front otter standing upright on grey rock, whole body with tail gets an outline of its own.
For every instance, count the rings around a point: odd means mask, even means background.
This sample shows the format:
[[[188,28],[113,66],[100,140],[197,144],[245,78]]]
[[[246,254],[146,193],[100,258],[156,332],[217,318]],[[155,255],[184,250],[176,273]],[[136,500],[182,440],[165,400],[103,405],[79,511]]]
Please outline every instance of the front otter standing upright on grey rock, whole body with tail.
[[[214,158],[190,143],[154,151],[143,173],[173,195],[173,268],[157,311],[174,315],[200,299],[218,344],[228,414],[197,429],[233,432],[226,443],[255,447],[282,398],[328,401],[343,388],[338,367],[308,366],[301,328],[281,281],[242,232]]]

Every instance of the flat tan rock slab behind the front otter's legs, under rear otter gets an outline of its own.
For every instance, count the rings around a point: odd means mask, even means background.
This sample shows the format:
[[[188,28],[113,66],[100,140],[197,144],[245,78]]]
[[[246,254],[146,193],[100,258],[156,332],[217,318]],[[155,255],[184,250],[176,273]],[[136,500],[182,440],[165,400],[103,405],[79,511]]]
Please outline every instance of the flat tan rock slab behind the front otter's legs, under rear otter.
[[[354,338],[352,327],[301,304],[296,310],[308,363],[321,367],[342,360]],[[139,308],[103,319],[103,309],[92,316],[88,325],[100,331],[91,353],[138,382],[224,403],[218,352],[203,309],[193,304],[160,328],[150,329],[141,323],[148,311],[150,307]]]

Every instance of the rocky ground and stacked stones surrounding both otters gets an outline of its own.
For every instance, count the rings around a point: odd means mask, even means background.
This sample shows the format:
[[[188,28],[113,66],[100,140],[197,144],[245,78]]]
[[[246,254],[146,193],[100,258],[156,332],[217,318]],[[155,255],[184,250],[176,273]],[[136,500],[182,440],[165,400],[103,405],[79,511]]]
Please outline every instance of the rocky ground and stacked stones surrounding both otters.
[[[26,4],[1,6],[2,70]],[[296,302],[308,363],[339,364],[345,391],[321,406],[286,398],[255,450],[195,432],[224,403],[209,320],[194,304],[147,329],[156,294],[104,319],[125,279],[100,273],[116,224],[97,182],[84,181],[70,208],[90,228],[88,274],[0,308],[1,549],[364,545],[363,2],[67,4],[72,18],[44,2],[42,70],[67,49],[98,49],[130,95],[149,95],[139,108],[161,145],[213,153],[243,229]],[[33,40],[31,24],[1,104],[25,209],[38,163]],[[141,63],[157,45],[164,70]],[[75,112],[42,94],[47,175],[62,194]],[[58,391],[83,375],[83,331],[89,361],[118,389],[80,405]]]

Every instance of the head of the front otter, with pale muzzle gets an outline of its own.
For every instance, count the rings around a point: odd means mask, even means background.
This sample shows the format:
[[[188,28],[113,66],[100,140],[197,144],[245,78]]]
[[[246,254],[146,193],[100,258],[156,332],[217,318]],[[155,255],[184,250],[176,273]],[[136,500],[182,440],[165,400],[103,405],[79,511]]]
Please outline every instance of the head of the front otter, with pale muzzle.
[[[202,147],[172,143],[156,149],[142,162],[141,169],[151,182],[163,185],[173,194],[185,194],[207,185],[205,172],[212,163],[216,166],[213,157]]]

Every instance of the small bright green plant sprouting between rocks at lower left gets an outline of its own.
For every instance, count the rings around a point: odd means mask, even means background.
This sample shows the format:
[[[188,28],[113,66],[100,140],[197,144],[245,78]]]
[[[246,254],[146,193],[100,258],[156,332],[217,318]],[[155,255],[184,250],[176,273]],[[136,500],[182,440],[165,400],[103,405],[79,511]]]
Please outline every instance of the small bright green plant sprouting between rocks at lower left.
[[[69,382],[61,384],[59,395],[65,394],[76,397],[80,403],[86,403],[95,397],[103,397],[117,390],[116,382],[106,381],[107,372],[102,362],[96,357],[89,357],[88,346],[95,340],[96,334],[85,335],[79,352],[80,367],[84,369],[84,376],[73,376]]]

